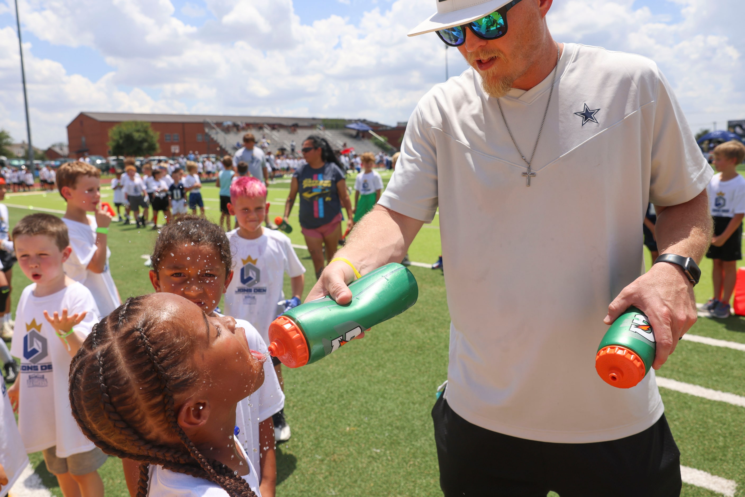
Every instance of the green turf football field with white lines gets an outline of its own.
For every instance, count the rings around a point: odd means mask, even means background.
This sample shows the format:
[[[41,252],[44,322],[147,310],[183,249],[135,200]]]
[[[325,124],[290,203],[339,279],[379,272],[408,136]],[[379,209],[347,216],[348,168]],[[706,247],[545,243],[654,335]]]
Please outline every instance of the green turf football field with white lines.
[[[384,180],[390,174],[383,174]],[[289,181],[270,186],[270,215],[281,215]],[[349,182],[352,184],[352,182]],[[108,198],[105,196],[108,195]],[[111,201],[104,190],[104,201]],[[219,216],[218,191],[203,187],[207,215]],[[34,209],[61,211],[59,194],[11,194],[5,200],[11,225]],[[22,207],[12,207],[22,206]],[[291,224],[294,244],[303,245],[297,206]],[[641,229],[641,226],[640,226]],[[151,291],[142,255],[150,253],[155,232],[114,224],[110,232],[111,267],[122,298]],[[308,273],[308,252],[297,250]],[[437,216],[422,229],[410,259],[434,262],[440,255]],[[648,259],[647,253],[647,259]],[[647,263],[648,264],[648,263]],[[434,392],[446,379],[449,316],[443,274],[411,268],[419,282],[419,301],[399,317],[376,326],[362,341],[297,370],[285,369],[286,414],[293,437],[278,448],[279,496],[437,496],[437,455],[430,410]],[[697,300],[711,294],[711,265],[704,259]],[[287,281],[289,291],[289,282]],[[28,279],[13,274],[13,297]],[[15,303],[13,303],[13,306]],[[691,333],[745,344],[745,318],[702,318]],[[659,376],[745,396],[745,352],[680,342]],[[682,452],[682,464],[738,483],[745,496],[745,408],[660,389],[666,414]],[[61,496],[40,454],[32,455],[37,473]],[[107,496],[127,496],[121,464],[110,458],[101,469]],[[683,496],[721,494],[684,484]]]

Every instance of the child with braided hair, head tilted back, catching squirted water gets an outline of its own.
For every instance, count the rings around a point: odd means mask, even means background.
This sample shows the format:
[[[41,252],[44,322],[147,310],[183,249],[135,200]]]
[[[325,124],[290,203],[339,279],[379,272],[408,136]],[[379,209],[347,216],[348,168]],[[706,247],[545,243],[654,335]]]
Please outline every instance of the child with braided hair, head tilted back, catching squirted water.
[[[231,317],[156,293],[128,299],[77,351],[72,414],[101,450],[141,463],[138,497],[260,496],[233,431],[264,368],[239,331]]]

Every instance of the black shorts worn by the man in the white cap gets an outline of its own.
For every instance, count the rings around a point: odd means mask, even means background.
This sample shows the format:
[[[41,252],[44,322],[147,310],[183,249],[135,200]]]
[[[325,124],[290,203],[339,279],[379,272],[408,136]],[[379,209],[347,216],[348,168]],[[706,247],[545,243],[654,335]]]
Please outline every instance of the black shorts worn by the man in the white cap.
[[[445,497],[679,497],[680,452],[663,415],[631,437],[548,443],[489,431],[455,414],[440,397],[432,409]]]

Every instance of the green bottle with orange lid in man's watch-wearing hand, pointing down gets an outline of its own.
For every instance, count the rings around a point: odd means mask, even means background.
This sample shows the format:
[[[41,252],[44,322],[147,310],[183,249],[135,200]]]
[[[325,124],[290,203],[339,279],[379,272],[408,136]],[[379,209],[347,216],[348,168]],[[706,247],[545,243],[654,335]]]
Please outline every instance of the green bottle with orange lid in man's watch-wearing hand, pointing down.
[[[654,330],[647,315],[630,307],[603,336],[595,355],[595,370],[603,382],[618,387],[631,388],[649,373],[656,345]]]

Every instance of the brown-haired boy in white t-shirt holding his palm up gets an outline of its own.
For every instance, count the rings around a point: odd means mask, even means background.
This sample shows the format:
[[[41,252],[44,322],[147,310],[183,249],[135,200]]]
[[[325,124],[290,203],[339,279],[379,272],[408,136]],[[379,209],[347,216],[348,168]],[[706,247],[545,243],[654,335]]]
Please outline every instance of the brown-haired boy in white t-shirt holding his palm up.
[[[21,373],[8,390],[19,411],[26,452],[42,451],[63,495],[104,496],[97,469],[107,456],[88,440],[72,417],[70,362],[93,325],[98,308],[88,288],[66,276],[72,253],[66,224],[51,214],[28,215],[13,228],[18,264],[33,283],[16,308],[11,352]]]

